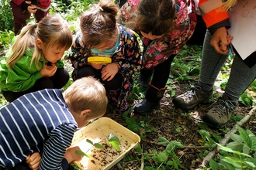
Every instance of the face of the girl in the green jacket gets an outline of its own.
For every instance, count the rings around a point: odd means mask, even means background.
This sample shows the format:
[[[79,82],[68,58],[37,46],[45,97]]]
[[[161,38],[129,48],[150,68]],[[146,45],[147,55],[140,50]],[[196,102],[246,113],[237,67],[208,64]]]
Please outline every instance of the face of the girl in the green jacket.
[[[47,59],[47,61],[50,61],[50,63],[56,63],[58,60],[62,58],[65,51],[67,49],[57,48],[57,45],[55,46],[48,46],[48,48],[42,48],[44,59]]]

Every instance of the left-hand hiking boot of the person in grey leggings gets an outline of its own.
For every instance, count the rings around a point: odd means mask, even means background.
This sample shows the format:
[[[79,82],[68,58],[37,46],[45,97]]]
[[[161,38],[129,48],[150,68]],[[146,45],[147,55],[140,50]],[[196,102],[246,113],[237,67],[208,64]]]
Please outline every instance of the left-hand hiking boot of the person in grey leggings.
[[[190,110],[198,104],[211,104],[213,103],[213,90],[204,92],[202,87],[196,83],[191,90],[175,97],[172,103],[182,110]]]

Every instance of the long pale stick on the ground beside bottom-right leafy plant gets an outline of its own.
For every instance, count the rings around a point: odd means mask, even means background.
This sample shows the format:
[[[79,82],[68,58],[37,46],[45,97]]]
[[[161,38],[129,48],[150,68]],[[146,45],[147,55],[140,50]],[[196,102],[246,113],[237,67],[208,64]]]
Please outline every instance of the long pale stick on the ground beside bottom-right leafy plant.
[[[246,123],[254,114],[256,114],[256,107],[252,108],[242,120],[237,121],[237,124],[235,124],[234,127],[229,132],[227,132],[227,134],[225,134],[225,137],[219,142],[220,145],[226,145],[227,141],[230,140],[230,134],[235,134],[237,132],[237,127],[243,126],[243,124]],[[206,168],[206,164],[208,164],[209,160],[212,159],[216,155],[216,153],[219,152],[219,150],[220,148],[215,148],[213,151],[210,151],[209,154],[206,155],[205,158],[203,158],[202,164],[199,165],[199,168]]]

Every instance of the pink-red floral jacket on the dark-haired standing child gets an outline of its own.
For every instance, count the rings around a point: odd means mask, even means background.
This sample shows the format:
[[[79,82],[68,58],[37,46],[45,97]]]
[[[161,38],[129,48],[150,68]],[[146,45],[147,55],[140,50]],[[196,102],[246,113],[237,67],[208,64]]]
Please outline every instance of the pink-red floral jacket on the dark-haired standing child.
[[[128,0],[119,12],[122,22],[133,19],[134,12],[140,0]],[[160,39],[150,40],[141,36],[143,42],[143,65],[146,69],[153,69],[163,63],[172,54],[177,54],[189,40],[195,30],[196,13],[193,0],[176,0],[175,29],[171,29]],[[140,34],[140,32],[138,32]]]

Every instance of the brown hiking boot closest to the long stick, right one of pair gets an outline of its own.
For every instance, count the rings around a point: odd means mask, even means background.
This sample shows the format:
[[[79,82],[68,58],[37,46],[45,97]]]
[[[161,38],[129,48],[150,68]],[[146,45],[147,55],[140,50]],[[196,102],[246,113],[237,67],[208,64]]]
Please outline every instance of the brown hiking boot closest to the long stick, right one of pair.
[[[230,120],[236,107],[237,103],[230,101],[225,96],[220,97],[213,108],[202,117],[202,120],[213,128],[221,128]]]

